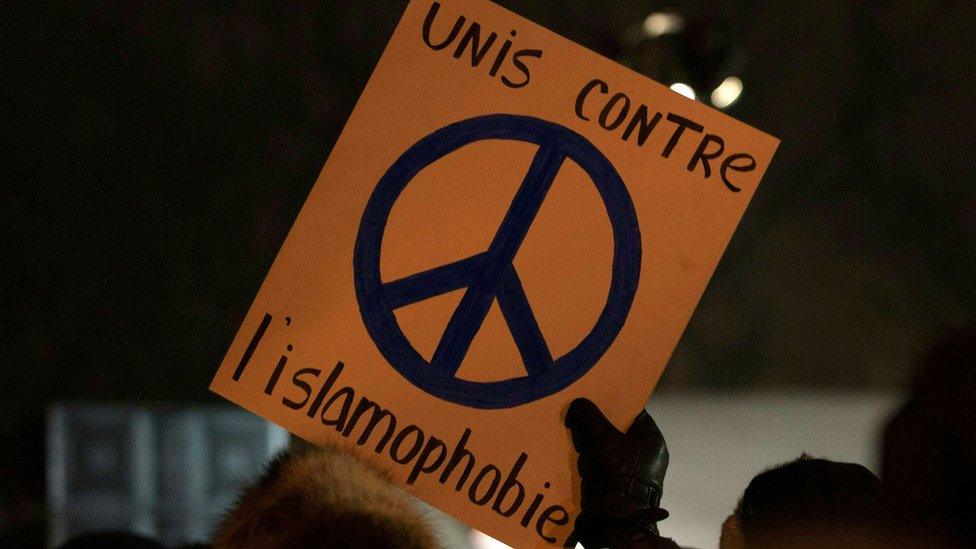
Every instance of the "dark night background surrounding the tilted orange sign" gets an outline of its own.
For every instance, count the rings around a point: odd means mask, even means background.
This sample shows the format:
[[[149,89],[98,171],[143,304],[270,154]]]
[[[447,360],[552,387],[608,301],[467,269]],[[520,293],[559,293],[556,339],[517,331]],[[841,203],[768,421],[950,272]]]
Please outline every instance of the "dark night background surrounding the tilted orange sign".
[[[501,3],[617,59],[661,5]],[[38,523],[50,402],[215,399],[404,5],[2,8],[0,540]],[[976,3],[695,9],[782,145],[663,387],[903,387],[976,312]]]

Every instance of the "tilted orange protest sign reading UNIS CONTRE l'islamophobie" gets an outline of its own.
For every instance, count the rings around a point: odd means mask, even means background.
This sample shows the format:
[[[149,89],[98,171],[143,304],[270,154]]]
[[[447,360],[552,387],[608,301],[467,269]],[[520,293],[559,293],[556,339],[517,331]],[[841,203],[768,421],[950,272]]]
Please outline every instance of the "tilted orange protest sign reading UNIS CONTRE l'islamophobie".
[[[517,547],[641,409],[777,140],[484,0],[410,3],[211,385]]]

